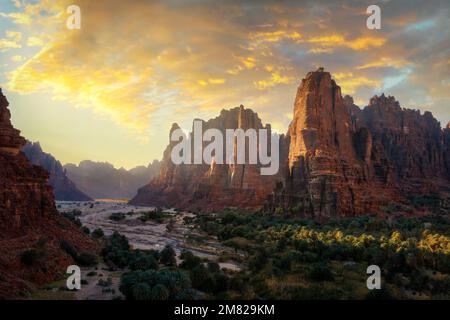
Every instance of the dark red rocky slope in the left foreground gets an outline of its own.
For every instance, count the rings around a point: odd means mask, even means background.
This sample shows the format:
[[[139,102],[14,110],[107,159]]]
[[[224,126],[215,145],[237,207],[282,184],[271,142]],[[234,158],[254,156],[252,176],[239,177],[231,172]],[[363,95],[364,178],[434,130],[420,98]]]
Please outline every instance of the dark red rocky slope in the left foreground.
[[[0,90],[0,298],[19,294],[60,277],[72,258],[60,249],[70,241],[78,250],[96,244],[56,210],[48,173],[20,151],[25,139],[11,125],[8,101]],[[35,261],[21,262],[33,249]]]

